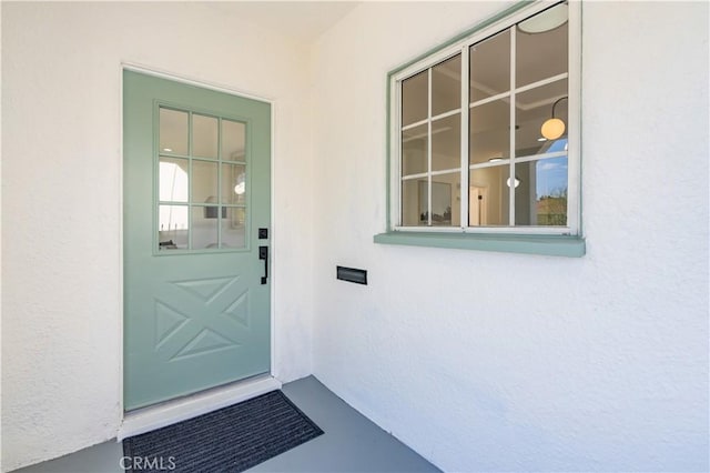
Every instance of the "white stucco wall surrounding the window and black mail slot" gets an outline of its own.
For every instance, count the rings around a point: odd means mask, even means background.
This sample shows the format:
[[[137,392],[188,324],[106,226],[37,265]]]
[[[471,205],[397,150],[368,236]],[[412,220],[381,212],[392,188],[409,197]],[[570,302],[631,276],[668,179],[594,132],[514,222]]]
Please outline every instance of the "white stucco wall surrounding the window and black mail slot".
[[[707,2],[585,4],[586,256],[373,243],[387,71],[504,8],[365,3],[314,47],[314,373],[446,471],[707,471]]]

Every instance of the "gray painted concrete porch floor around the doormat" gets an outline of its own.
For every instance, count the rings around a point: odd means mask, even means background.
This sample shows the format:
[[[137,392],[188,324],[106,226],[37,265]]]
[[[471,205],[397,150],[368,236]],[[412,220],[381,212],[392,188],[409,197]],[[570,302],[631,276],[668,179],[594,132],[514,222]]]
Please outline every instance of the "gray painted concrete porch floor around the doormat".
[[[439,470],[333,394],[313,376],[283,392],[325,434],[248,472],[438,472]],[[209,440],[207,440],[209,441]],[[123,449],[105,442],[17,473],[121,473]],[[180,472],[180,469],[173,470]]]

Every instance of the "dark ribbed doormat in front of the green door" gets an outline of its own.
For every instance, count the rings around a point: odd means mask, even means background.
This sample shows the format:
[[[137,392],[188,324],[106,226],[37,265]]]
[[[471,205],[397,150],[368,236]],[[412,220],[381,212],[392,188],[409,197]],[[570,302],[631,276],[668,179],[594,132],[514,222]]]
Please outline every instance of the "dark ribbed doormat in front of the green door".
[[[123,441],[129,472],[242,472],[323,431],[281,391]],[[128,459],[126,459],[128,457]]]

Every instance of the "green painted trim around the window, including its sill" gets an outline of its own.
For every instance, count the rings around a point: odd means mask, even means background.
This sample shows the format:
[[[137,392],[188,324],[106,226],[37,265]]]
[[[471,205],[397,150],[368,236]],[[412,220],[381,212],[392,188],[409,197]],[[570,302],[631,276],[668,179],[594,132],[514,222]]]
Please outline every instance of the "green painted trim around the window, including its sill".
[[[493,251],[503,253],[538,254],[564,258],[581,258],[586,254],[586,240],[581,220],[581,192],[579,193],[579,221],[578,234],[517,234],[517,233],[488,233],[488,232],[436,232],[436,231],[407,231],[395,229],[392,221],[392,79],[410,66],[426,60],[450,46],[467,39],[468,37],[495,24],[536,3],[534,0],[521,0],[513,7],[488,18],[473,28],[455,36],[448,41],[432,48],[404,64],[387,73],[386,84],[386,229],[384,233],[375,234],[373,242],[377,244],[394,244],[409,246],[428,246],[440,249],[459,249],[475,251]],[[581,10],[581,8],[580,8]],[[579,158],[581,160],[581,158]],[[581,182],[581,172],[579,174]],[[462,229],[463,230],[463,229]]]

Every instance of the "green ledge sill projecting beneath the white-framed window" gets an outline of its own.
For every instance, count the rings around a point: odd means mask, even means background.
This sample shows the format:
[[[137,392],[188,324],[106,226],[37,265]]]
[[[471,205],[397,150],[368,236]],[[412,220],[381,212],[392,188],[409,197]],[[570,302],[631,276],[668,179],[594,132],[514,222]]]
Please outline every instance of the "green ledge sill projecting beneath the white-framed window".
[[[397,231],[376,234],[374,241],[381,244],[545,254],[567,258],[581,258],[586,253],[584,238],[567,235],[503,235]]]

